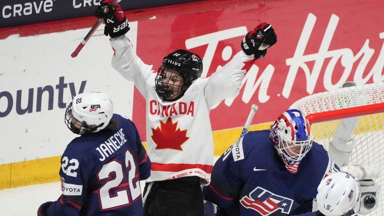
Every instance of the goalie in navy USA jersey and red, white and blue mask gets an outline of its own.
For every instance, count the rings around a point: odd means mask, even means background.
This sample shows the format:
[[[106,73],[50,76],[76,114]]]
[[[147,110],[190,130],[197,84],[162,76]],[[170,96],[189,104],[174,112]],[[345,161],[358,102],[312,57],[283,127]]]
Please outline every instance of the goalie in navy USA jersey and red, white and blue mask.
[[[204,186],[218,215],[315,215],[312,201],[321,179],[337,172],[327,151],[312,141],[299,110],[287,110],[269,130],[250,131],[213,166]],[[208,209],[206,209],[208,211]]]

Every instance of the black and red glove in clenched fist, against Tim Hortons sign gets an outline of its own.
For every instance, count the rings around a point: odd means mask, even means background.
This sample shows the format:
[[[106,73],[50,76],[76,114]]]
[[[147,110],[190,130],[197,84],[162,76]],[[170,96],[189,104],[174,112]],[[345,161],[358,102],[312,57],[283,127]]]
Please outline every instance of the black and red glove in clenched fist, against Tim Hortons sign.
[[[255,59],[265,56],[266,48],[277,42],[277,36],[270,24],[261,23],[248,32],[241,41],[241,48],[246,55],[254,54]]]

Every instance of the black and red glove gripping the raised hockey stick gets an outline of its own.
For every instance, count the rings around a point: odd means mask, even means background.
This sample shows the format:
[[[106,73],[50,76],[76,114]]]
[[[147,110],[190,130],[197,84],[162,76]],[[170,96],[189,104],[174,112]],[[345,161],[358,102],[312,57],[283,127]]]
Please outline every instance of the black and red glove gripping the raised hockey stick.
[[[120,5],[111,5],[111,0],[104,0],[97,7],[94,16],[99,19],[103,19],[105,23],[104,35],[115,38],[121,35],[125,35],[129,31],[128,21],[125,18],[124,12],[120,8]]]

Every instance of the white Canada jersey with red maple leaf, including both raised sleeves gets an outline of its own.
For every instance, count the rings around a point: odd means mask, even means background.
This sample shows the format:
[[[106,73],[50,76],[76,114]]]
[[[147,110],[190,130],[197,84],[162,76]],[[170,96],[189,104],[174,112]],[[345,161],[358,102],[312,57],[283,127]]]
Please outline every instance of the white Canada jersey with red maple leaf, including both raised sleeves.
[[[163,101],[155,91],[156,73],[134,53],[125,36],[110,40],[112,66],[133,81],[146,101],[146,142],[152,161],[148,181],[199,176],[208,184],[213,165],[210,108],[238,95],[246,68],[253,60],[240,51],[209,78],[198,78],[176,101]]]

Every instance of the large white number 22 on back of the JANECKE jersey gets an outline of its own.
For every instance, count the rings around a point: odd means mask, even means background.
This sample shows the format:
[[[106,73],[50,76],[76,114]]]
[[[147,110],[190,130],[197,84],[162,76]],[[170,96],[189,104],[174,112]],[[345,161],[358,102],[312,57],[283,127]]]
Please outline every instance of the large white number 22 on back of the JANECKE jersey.
[[[112,188],[118,188],[121,186],[121,182],[124,179],[124,170],[128,171],[128,185],[127,188],[121,188],[116,190],[117,192],[111,193],[109,190]],[[115,173],[115,178],[110,178],[111,173]],[[98,179],[107,180],[107,182],[99,189],[99,197],[102,209],[112,208],[121,205],[130,204],[128,192],[130,192],[131,200],[135,200],[141,195],[138,179],[134,181],[136,174],[136,165],[134,163],[133,155],[129,152],[125,152],[125,166],[118,161],[112,160],[105,163],[100,171],[97,173]],[[134,182],[133,182],[134,181]]]

